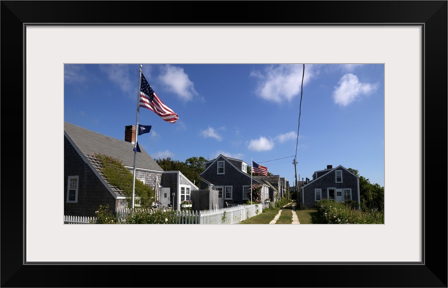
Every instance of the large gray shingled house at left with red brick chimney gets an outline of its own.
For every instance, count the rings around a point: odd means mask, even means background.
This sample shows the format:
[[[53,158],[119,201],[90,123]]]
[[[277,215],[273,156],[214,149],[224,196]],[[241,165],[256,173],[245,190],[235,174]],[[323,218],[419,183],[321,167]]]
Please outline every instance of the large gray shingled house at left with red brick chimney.
[[[64,122],[64,215],[94,216],[99,205],[112,212],[126,207],[123,192],[109,184],[92,154],[102,153],[121,160],[133,172],[135,126],[125,126],[124,141]],[[135,178],[156,188],[163,169],[140,146]],[[156,189],[158,190],[158,189]]]

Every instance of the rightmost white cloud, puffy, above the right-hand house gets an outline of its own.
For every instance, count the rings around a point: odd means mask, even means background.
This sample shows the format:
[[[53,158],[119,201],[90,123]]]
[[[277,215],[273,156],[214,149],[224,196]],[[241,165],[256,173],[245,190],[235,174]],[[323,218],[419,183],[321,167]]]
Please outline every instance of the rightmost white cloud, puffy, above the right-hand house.
[[[356,75],[347,73],[343,75],[339,86],[334,87],[334,103],[346,106],[352,101],[359,100],[362,95],[368,95],[376,90],[377,84],[361,83]]]

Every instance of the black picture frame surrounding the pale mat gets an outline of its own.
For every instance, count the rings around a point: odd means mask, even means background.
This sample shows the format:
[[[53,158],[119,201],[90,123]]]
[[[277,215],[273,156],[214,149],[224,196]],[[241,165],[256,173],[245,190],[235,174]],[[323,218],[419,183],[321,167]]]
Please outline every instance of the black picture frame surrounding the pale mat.
[[[446,151],[447,1],[1,1],[1,92],[4,102],[1,193],[1,287],[447,287]],[[421,25],[421,263],[197,263],[157,266],[24,263],[24,25],[42,24],[404,24]],[[23,96],[22,96],[23,95]],[[17,103],[17,100],[18,102]],[[9,118],[11,107],[21,117]],[[16,109],[12,109],[12,113]],[[443,115],[443,117],[442,117]],[[17,122],[18,118],[18,122]],[[20,129],[22,128],[22,130]],[[11,139],[10,135],[14,135]],[[17,135],[19,137],[17,137]],[[8,139],[11,139],[8,141]],[[31,144],[32,139],[26,139]],[[51,144],[51,143],[48,143]],[[52,143],[57,144],[57,143]],[[20,148],[17,148],[20,147]],[[22,154],[23,153],[23,154]],[[13,155],[8,157],[8,155]],[[50,160],[50,159],[49,159]],[[426,175],[428,179],[426,179]],[[440,176],[439,176],[440,175]],[[49,175],[50,177],[50,175]],[[439,179],[443,179],[440,181]],[[23,191],[15,188],[23,184]],[[440,185],[440,184],[441,185]],[[434,185],[436,184],[436,185]],[[38,187],[34,187],[39,191]],[[33,189],[34,189],[33,188]],[[425,197],[425,192],[428,197]],[[402,191],[405,193],[405,190]],[[411,212],[411,211],[406,211]],[[403,216],[403,221],[406,221]],[[51,235],[43,235],[50,237]],[[284,235],[285,242],[289,242]],[[378,247],[380,248],[380,247]],[[350,252],[350,251],[347,251]],[[294,256],[294,252],[284,255]],[[271,266],[266,269],[267,266]],[[159,270],[159,271],[157,271]],[[333,273],[330,271],[338,272]],[[116,274],[119,273],[119,276]],[[152,273],[152,276],[150,275]],[[135,276],[136,274],[141,276]],[[159,277],[154,276],[159,274]],[[188,274],[194,281],[185,282]],[[205,277],[204,275],[210,275]],[[238,276],[234,276],[238,275]],[[152,280],[154,279],[155,280]]]

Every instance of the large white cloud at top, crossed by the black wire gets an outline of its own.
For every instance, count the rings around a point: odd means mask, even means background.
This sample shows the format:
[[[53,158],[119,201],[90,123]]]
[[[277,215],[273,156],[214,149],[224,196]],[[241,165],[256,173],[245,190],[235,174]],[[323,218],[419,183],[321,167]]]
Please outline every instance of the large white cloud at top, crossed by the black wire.
[[[290,101],[293,97],[298,96],[303,75],[303,85],[305,85],[316,74],[313,65],[305,65],[303,73],[303,65],[301,64],[280,64],[269,65],[263,72],[253,70],[250,76],[259,79],[255,93],[265,99],[274,102]]]

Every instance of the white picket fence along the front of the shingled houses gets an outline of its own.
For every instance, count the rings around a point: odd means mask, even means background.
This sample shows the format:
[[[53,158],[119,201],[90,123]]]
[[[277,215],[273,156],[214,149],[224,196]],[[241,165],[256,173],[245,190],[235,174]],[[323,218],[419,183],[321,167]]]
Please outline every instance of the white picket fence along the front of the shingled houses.
[[[258,203],[251,205],[236,205],[227,208],[218,208],[213,210],[175,210],[177,224],[237,224],[245,219],[260,214],[268,203]],[[144,210],[142,208],[136,208]],[[131,208],[117,208],[118,222],[126,217]],[[149,211],[150,209],[147,209]],[[89,224],[90,220],[95,221],[96,217],[66,216],[64,215],[64,224]]]

